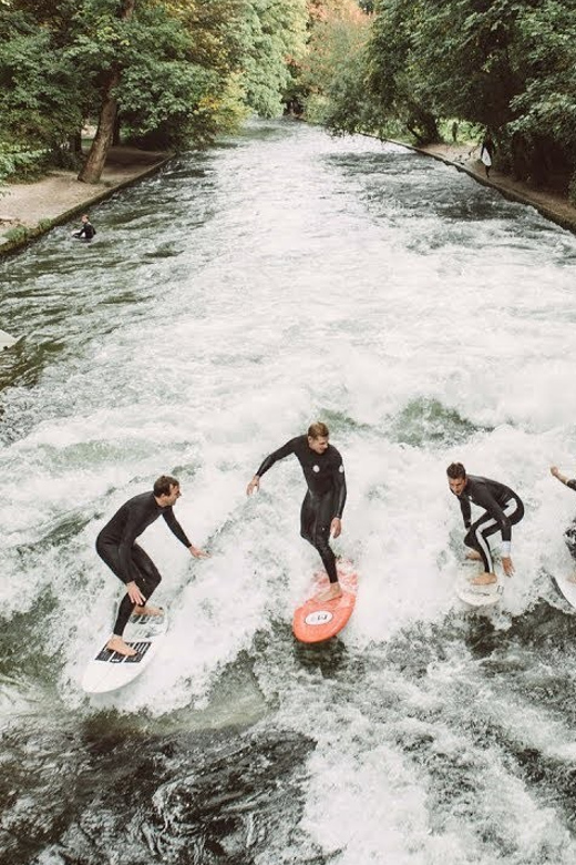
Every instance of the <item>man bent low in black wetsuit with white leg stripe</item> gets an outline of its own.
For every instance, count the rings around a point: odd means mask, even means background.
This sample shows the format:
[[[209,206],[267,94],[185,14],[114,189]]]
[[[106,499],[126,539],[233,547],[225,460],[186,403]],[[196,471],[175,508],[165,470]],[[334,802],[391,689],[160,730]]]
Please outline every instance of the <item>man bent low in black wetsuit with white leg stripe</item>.
[[[512,577],[512,527],[524,517],[524,505],[520,496],[497,480],[466,475],[462,462],[451,462],[446,475],[450,489],[460,501],[466,528],[464,543],[471,549],[467,558],[482,561],[484,566],[484,571],[471,582],[474,586],[496,582],[488,538],[497,531],[502,532],[502,567],[506,577]],[[471,502],[484,509],[484,513],[475,522],[472,522]]]

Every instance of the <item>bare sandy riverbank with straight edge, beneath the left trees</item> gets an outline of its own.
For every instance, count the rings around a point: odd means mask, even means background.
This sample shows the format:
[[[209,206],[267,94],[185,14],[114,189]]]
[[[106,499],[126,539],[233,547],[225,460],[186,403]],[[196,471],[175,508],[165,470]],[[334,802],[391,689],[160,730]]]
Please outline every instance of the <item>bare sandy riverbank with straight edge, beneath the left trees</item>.
[[[111,147],[100,183],[81,183],[78,171],[51,171],[34,183],[10,183],[0,195],[0,255],[68,222],[116,190],[156,172],[172,154]]]

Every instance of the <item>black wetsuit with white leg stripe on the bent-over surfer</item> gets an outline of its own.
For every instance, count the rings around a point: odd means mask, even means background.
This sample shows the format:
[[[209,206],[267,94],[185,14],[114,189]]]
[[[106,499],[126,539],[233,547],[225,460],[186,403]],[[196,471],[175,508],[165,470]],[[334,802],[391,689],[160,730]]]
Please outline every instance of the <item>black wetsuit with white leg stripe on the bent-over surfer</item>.
[[[464,526],[469,530],[464,543],[480,552],[486,573],[494,573],[487,538],[496,531],[501,531],[503,554],[510,556],[512,527],[523,518],[524,505],[510,487],[498,484],[497,480],[480,478],[474,475],[467,475],[466,486],[457,498]],[[486,511],[475,522],[471,521],[471,501]]]

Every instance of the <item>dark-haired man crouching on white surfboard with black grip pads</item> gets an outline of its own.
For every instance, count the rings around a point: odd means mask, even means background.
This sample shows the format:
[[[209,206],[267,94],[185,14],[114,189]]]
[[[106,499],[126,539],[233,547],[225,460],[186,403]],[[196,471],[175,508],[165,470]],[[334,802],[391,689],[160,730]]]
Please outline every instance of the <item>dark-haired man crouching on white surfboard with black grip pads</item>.
[[[126,587],[126,594],[119,607],[114,632],[106,643],[107,649],[119,654],[136,654],[122,637],[133,612],[141,615],[162,613],[156,607],[147,606],[162,577],[150,556],[136,543],[136,538],[144,529],[162,516],[173,535],[194,558],[203,559],[208,554],[191,543],[174,516],[173,508],[181,495],[179,481],[169,475],[162,475],[154,482],[152,492],[141,492],[128,499],[96,538],[97,554]]]

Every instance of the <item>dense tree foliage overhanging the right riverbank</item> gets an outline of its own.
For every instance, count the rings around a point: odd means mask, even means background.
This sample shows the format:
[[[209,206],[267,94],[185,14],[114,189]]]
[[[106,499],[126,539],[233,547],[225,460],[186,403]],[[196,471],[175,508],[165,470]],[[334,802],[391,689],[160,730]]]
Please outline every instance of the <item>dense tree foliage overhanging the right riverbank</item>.
[[[457,118],[469,140],[492,132],[501,169],[566,187],[576,169],[576,0],[377,0],[368,45],[349,59],[326,27],[336,0],[310,2],[323,27],[323,41],[312,27],[304,74],[315,120],[381,135],[401,124],[428,143]]]

